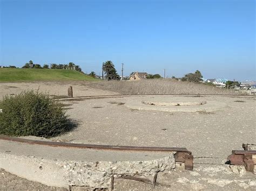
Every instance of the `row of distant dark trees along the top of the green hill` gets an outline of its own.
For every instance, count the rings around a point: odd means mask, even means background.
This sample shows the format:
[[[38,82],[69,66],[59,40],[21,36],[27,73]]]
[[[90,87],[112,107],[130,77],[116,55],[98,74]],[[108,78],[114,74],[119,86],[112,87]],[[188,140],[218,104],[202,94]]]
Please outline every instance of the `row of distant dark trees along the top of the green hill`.
[[[34,64],[32,60],[25,63],[22,68],[45,68],[45,69],[71,69],[77,70],[78,72],[82,72],[82,69],[79,65],[75,65],[73,62],[69,62],[69,64],[57,64],[57,63],[50,63],[49,65],[45,64],[43,67],[38,63]]]

